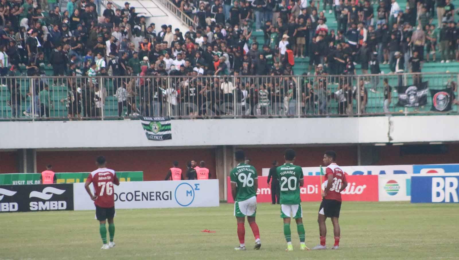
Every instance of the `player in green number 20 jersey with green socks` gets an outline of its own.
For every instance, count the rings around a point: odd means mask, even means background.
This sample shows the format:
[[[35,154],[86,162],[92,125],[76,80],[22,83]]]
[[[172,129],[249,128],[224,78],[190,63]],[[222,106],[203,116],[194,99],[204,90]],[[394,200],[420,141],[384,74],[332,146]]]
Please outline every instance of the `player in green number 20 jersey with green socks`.
[[[297,222],[297,231],[300,237],[300,249],[306,250],[304,243],[303,211],[301,209],[300,187],[303,186],[303,171],[300,166],[293,165],[295,161],[295,151],[285,150],[285,164],[277,167],[276,177],[280,183],[280,217],[284,219],[284,235],[287,241],[287,249],[292,251],[290,218],[293,217]]]

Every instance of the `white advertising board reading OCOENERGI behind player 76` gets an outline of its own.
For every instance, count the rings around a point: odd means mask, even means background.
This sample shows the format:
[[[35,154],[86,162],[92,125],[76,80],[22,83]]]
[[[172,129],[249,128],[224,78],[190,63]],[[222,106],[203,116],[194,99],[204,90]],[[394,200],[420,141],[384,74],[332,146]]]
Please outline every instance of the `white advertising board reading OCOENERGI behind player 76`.
[[[94,210],[84,183],[73,184],[74,210]],[[124,182],[114,186],[115,209],[218,207],[218,180]],[[91,184],[91,189],[94,188]]]

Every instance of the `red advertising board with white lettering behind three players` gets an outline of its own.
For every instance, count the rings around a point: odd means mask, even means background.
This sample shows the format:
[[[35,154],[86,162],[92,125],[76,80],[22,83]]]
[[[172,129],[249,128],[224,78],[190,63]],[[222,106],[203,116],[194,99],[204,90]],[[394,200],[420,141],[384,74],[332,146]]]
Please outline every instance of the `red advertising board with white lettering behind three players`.
[[[319,178],[319,176],[304,177],[304,185],[300,188],[301,201],[322,200]],[[346,176],[346,179],[347,188],[341,192],[343,201],[378,201],[378,176]],[[258,177],[257,202],[271,202],[271,185],[267,181],[267,177]],[[229,177],[228,183],[228,203],[234,203]],[[324,183],[321,188],[325,188]]]

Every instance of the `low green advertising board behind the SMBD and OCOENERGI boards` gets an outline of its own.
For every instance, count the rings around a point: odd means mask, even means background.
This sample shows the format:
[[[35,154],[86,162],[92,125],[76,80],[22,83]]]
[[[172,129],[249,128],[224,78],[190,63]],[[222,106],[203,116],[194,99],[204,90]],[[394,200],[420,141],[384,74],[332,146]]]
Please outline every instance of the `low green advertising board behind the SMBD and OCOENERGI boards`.
[[[89,172],[56,172],[57,183],[84,183]],[[120,182],[141,182],[143,171],[117,171]],[[0,185],[39,184],[41,173],[2,173]]]

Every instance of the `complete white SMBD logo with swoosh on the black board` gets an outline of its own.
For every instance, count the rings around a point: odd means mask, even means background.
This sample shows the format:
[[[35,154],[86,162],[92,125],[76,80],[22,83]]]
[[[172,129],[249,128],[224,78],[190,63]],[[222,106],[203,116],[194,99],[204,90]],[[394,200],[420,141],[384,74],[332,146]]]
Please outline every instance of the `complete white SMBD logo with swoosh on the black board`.
[[[53,194],[61,195],[65,192],[63,189],[46,187],[42,192],[32,191],[29,198],[39,198],[48,200],[51,199]],[[30,210],[65,210],[67,209],[66,201],[32,201],[29,203]]]

